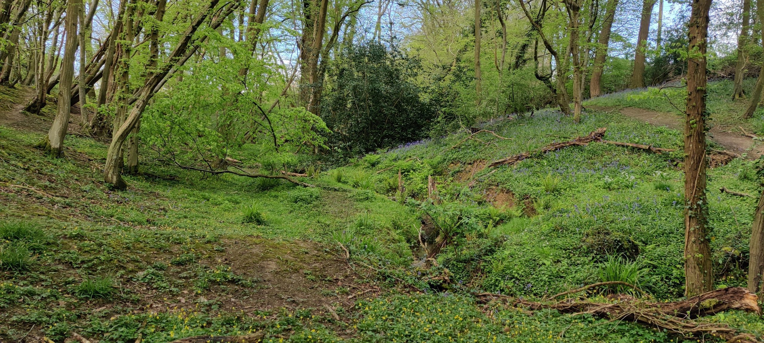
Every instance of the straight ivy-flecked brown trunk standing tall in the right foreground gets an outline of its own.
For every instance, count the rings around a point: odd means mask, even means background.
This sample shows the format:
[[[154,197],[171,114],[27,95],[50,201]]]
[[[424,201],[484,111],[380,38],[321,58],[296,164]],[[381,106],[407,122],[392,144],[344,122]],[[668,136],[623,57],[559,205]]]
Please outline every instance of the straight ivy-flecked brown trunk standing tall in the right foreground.
[[[685,119],[685,296],[714,290],[706,201],[706,43],[711,0],[693,0]]]

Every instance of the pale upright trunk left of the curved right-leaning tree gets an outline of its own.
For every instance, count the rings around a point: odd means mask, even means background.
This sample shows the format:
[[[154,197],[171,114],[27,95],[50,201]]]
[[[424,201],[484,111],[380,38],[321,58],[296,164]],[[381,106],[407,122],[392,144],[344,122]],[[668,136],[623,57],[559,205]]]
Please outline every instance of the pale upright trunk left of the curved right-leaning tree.
[[[56,119],[50,127],[47,136],[39,145],[50,151],[53,157],[63,157],[63,139],[66,136],[66,127],[69,126],[69,114],[71,110],[70,89],[74,77],[74,55],[77,50],[77,21],[79,7],[82,0],[71,0],[66,8],[66,48],[63,51],[61,62],[61,78],[58,91],[58,106]]]

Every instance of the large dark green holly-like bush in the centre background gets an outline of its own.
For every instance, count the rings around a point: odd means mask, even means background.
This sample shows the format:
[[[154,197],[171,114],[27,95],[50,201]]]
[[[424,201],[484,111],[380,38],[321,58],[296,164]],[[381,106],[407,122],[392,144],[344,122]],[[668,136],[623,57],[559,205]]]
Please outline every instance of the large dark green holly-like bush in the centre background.
[[[396,46],[348,44],[327,70],[322,119],[336,152],[358,154],[426,137],[437,109],[416,84],[419,59]]]

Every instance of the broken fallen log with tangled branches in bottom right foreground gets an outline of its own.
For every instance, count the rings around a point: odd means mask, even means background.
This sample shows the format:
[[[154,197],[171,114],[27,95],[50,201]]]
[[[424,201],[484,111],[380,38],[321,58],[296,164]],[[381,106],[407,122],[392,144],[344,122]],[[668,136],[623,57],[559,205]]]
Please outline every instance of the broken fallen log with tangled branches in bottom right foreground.
[[[639,322],[686,337],[710,334],[728,342],[761,343],[755,336],[737,332],[726,324],[695,320],[730,309],[760,314],[756,294],[743,287],[712,290],[688,300],[670,303],[657,303],[628,296],[617,297],[613,303],[594,303],[570,298],[560,302],[533,302],[493,293],[479,293],[476,297],[484,303],[499,300],[511,306],[525,306],[533,310],[555,309],[561,313],[571,313],[572,316],[590,314],[610,320]]]

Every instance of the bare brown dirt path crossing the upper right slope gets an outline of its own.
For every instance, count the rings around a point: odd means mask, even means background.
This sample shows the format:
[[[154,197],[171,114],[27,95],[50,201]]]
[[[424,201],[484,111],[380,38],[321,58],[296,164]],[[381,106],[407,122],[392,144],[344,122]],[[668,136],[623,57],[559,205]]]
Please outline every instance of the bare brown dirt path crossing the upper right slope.
[[[656,112],[636,107],[623,107],[620,113],[626,117],[646,121],[652,125],[671,127],[676,130],[684,130],[682,118],[676,114]],[[748,154],[747,159],[757,159],[764,155],[764,145],[756,143],[753,139],[740,135],[740,133],[727,132],[719,127],[711,127],[708,138],[724,146],[724,149],[738,154]]]

